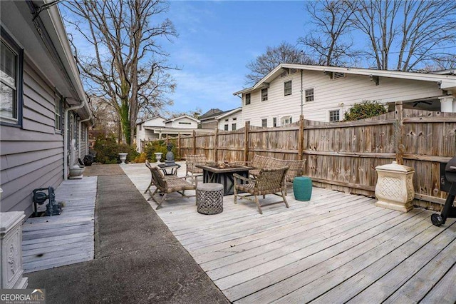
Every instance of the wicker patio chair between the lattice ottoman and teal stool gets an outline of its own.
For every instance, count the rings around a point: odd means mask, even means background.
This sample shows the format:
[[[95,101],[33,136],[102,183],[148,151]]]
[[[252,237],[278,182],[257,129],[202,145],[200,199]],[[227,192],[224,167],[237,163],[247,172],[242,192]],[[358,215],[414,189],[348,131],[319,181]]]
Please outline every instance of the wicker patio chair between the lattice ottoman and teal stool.
[[[289,208],[285,198],[285,177],[288,167],[282,168],[263,168],[259,171],[256,178],[245,178],[234,173],[234,203],[237,203],[237,198],[246,198],[249,201],[254,201],[257,204],[259,213],[263,214],[261,207],[269,206],[276,203],[285,203],[286,208]],[[244,181],[244,184],[240,184],[237,179]],[[237,191],[244,191],[248,194],[239,195]],[[280,193],[280,194],[278,194]],[[281,196],[282,201],[274,203],[268,203],[267,205],[261,205],[259,203],[258,196],[266,198],[266,194],[274,194]],[[254,199],[249,196],[254,196]]]

